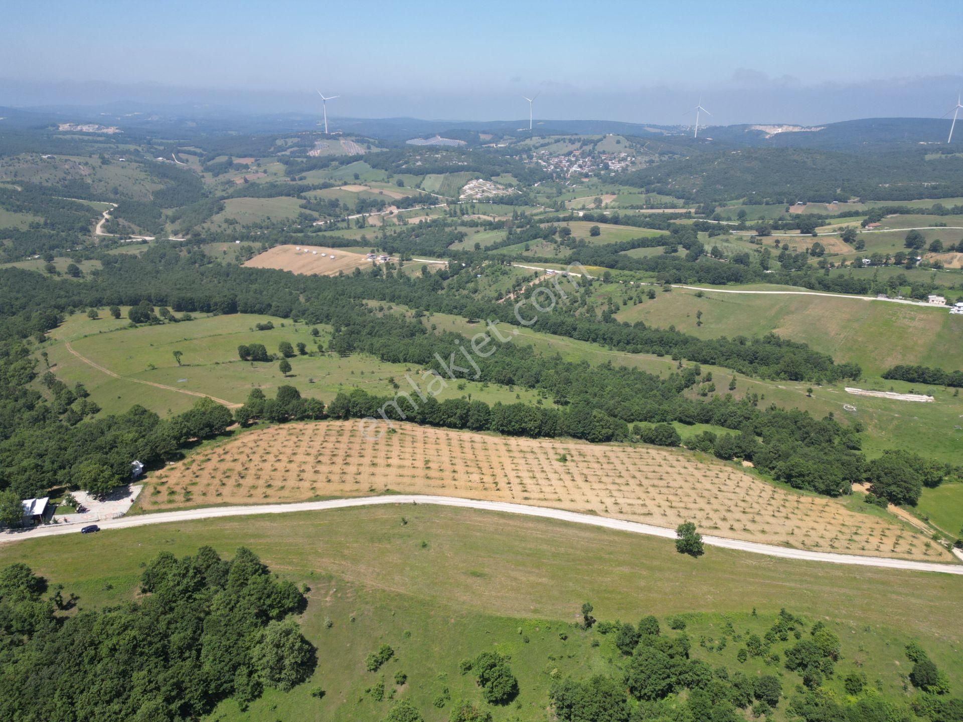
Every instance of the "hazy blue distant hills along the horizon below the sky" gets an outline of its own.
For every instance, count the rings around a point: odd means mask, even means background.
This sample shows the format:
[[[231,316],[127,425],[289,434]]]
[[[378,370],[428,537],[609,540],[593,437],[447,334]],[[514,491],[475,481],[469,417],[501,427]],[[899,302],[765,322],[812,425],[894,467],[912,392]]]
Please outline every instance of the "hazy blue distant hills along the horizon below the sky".
[[[160,131],[178,131],[183,137],[220,133],[285,133],[317,131],[315,115],[283,113],[244,115],[228,109],[206,106],[153,106],[119,104],[85,107],[5,108],[0,107],[0,129],[6,127],[43,128],[54,123],[79,122],[116,125],[134,136],[149,136]],[[337,131],[388,142],[442,136],[477,144],[490,142],[491,136],[517,138],[527,134],[528,120],[425,120],[413,117],[330,119]],[[673,144],[705,147],[801,147],[819,149],[857,149],[872,146],[918,146],[944,144],[950,120],[926,117],[863,118],[799,126],[785,123],[753,123],[700,128],[699,138],[691,138],[691,128],[615,120],[537,120],[534,135],[615,134],[643,139],[662,138]],[[963,132],[958,134],[963,142]],[[708,149],[708,148],[706,148]]]

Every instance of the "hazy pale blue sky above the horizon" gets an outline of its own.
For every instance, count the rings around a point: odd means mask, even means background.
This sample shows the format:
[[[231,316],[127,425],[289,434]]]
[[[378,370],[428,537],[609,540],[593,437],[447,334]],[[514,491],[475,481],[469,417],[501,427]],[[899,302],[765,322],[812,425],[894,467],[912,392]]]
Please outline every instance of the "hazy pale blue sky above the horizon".
[[[939,116],[963,2],[7,3],[0,105],[684,122]],[[316,96],[315,96],[316,97]]]

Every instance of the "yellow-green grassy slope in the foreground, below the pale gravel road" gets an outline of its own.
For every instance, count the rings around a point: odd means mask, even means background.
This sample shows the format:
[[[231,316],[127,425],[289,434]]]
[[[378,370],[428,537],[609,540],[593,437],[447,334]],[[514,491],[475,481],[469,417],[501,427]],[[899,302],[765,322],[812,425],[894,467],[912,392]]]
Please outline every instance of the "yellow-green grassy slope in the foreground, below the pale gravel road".
[[[486,650],[510,655],[520,687],[517,705],[489,708],[495,720],[544,720],[555,679],[616,674],[624,664],[611,636],[573,627],[586,600],[600,620],[655,614],[664,633],[674,633],[668,616],[684,614],[693,658],[750,675],[775,668],[755,659],[741,665],[735,638],[712,652],[701,641],[732,634],[728,625],[762,634],[785,607],[839,635],[838,678],[826,682],[839,694],[842,677],[861,669],[884,696],[905,702],[903,646],[911,639],[946,671],[953,694],[963,683],[958,577],[713,548],[692,559],[664,539],[468,509],[371,507],[111,530],[71,545],[54,537],[0,546],[0,565],[26,562],[91,608],[132,599],[140,564],[154,554],[194,554],[205,544],[223,556],[247,546],[282,577],[310,587],[300,621],[319,662],[314,677],[291,692],[268,690],[247,712],[222,703],[212,720],[375,722],[391,703],[365,690],[383,675],[388,692],[403,671],[408,683],[396,696],[411,700],[429,722],[443,722],[451,703],[432,703],[444,687],[453,700],[481,699],[457,664]],[[88,563],[91,557],[97,564]],[[601,643],[592,647],[595,638]],[[383,643],[396,658],[366,672],[365,656]],[[792,692],[795,676],[782,674]],[[315,685],[325,689],[321,700],[309,695]]]

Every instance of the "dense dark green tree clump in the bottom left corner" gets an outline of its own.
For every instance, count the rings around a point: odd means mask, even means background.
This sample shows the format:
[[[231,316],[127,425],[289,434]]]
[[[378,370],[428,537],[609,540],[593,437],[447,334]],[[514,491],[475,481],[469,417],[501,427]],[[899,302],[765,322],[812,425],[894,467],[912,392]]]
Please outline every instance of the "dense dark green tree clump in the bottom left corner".
[[[0,569],[2,719],[193,720],[314,671],[291,616],[304,596],[244,548],[230,560],[210,547],[158,554],[138,600],[115,607],[80,610],[48,586],[25,564]]]

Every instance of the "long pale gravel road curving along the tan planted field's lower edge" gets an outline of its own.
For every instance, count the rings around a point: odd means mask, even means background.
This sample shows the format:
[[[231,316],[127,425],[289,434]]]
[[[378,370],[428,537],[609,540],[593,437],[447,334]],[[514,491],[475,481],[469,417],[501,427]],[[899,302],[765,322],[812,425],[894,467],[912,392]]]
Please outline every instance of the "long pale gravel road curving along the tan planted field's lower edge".
[[[675,530],[664,527],[654,527],[649,524],[628,522],[622,519],[609,519],[592,514],[580,514],[575,511],[550,509],[544,506],[529,506],[521,503],[484,502],[475,499],[456,499],[455,497],[435,497],[415,494],[399,494],[384,497],[360,497],[356,499],[332,499],[326,502],[301,503],[271,503],[250,506],[219,506],[201,509],[186,509],[183,511],[165,511],[158,514],[143,514],[141,516],[122,517],[98,522],[100,529],[129,529],[145,527],[151,524],[169,524],[173,522],[187,522],[196,519],[221,519],[232,516],[250,516],[254,514],[287,514],[297,511],[325,511],[327,509],[343,509],[353,506],[372,506],[377,504],[419,504],[429,503],[440,506],[458,506],[461,508],[481,509],[483,511],[501,511],[508,514],[522,514],[524,516],[540,517],[542,519],[556,519],[572,524],[585,524],[590,527],[629,531],[636,534],[661,536],[674,539]],[[13,542],[26,539],[37,539],[43,536],[79,533],[79,525],[45,526],[19,532],[0,534],[0,542]],[[880,556],[859,556],[856,554],[829,554],[827,552],[808,552],[801,549],[787,549],[757,542],[740,541],[738,539],[723,539],[718,536],[702,537],[703,541],[712,547],[735,549],[751,554],[766,554],[784,559],[801,559],[804,561],[822,561],[833,564],[854,564],[864,567],[882,567],[885,569],[903,569],[915,572],[938,572],[942,574],[963,575],[963,564],[938,564],[926,561],[912,561],[910,559],[891,559]]]

